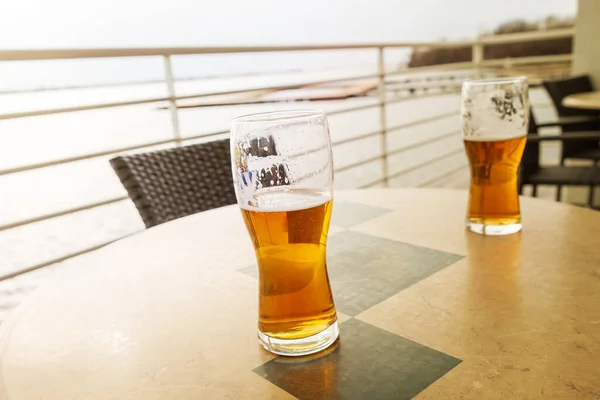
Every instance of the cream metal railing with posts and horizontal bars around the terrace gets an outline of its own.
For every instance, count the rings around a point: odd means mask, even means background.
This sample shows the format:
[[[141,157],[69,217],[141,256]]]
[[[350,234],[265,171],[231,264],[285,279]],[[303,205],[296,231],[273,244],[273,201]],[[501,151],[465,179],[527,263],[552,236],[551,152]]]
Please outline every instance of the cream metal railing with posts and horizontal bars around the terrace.
[[[405,146],[403,148],[389,150],[388,146],[388,138],[389,133],[393,131],[397,131],[400,129],[405,129],[408,127],[416,126],[419,124],[425,124],[428,122],[432,122],[438,119],[447,118],[451,115],[457,115],[458,110],[453,111],[452,113],[444,113],[434,117],[429,117],[417,121],[412,121],[409,123],[404,123],[397,126],[388,127],[387,126],[387,108],[388,106],[403,102],[410,101],[415,97],[423,97],[423,96],[434,96],[438,94],[432,94],[430,91],[428,93],[415,94],[412,97],[400,97],[400,98],[390,98],[387,87],[390,84],[387,79],[390,77],[403,75],[407,73],[415,73],[415,72],[433,72],[433,71],[456,71],[456,70],[473,70],[475,76],[480,76],[486,68],[490,67],[514,67],[518,65],[537,65],[537,64],[548,64],[548,63],[564,63],[571,61],[571,55],[552,55],[552,56],[536,56],[536,57],[519,57],[519,58],[511,58],[511,59],[485,59],[485,47],[488,45],[497,45],[497,44],[508,44],[508,43],[521,43],[521,42],[529,42],[529,41],[538,41],[538,40],[549,40],[549,39],[557,39],[557,38],[570,38],[573,35],[572,29],[561,29],[561,30],[552,30],[552,31],[542,31],[542,32],[529,32],[522,34],[508,34],[502,36],[494,36],[482,38],[476,41],[470,42],[434,42],[434,43],[372,43],[372,44],[349,44],[349,45],[316,45],[316,46],[249,46],[249,47],[180,47],[180,48],[121,48],[121,49],[72,49],[72,50],[0,50],[0,61],[10,62],[10,61],[32,61],[32,60],[60,60],[60,59],[85,59],[85,58],[118,58],[118,57],[162,57],[164,60],[164,82],[166,84],[166,93],[167,96],[164,97],[151,97],[145,99],[138,100],[130,100],[130,101],[120,101],[120,102],[104,102],[104,103],[96,103],[96,104],[88,104],[81,106],[73,106],[73,107],[62,107],[62,108],[48,108],[41,110],[24,110],[20,112],[12,112],[0,114],[0,120],[8,120],[8,119],[16,119],[16,118],[32,118],[42,115],[53,115],[53,114],[61,114],[61,113],[73,113],[80,111],[89,111],[89,110],[98,110],[98,109],[106,109],[106,108],[116,108],[116,107],[124,107],[124,106],[132,106],[132,105],[140,105],[140,104],[149,104],[149,103],[164,103],[168,102],[169,104],[169,112],[171,116],[171,126],[172,126],[172,137],[165,140],[140,143],[133,146],[127,147],[119,147],[110,150],[104,150],[94,153],[81,154],[74,157],[56,159],[51,161],[45,161],[35,164],[28,164],[23,166],[16,166],[12,168],[7,168],[0,170],[0,176],[15,174],[24,171],[31,171],[35,169],[47,168],[51,166],[68,164],[82,160],[88,160],[99,157],[106,157],[111,155],[116,155],[122,152],[129,152],[134,150],[141,150],[150,147],[156,147],[160,145],[181,145],[184,142],[198,140],[198,139],[210,139],[213,137],[219,137],[221,135],[225,135],[228,133],[227,129],[218,130],[215,132],[204,133],[194,136],[185,136],[182,137],[179,127],[179,114],[177,102],[181,100],[188,99],[197,99],[203,97],[213,97],[219,95],[232,95],[232,94],[243,94],[243,93],[252,93],[259,92],[264,90],[270,91],[278,91],[278,90],[289,90],[289,89],[297,89],[301,87],[307,86],[319,86],[323,84],[331,84],[331,83],[341,83],[341,82],[352,82],[352,81],[364,81],[371,80],[376,84],[377,87],[377,97],[376,101],[372,104],[367,105],[359,105],[341,108],[337,110],[333,110],[328,112],[328,115],[337,115],[344,113],[351,113],[356,111],[362,111],[372,108],[378,109],[378,120],[379,120],[379,128],[376,131],[369,132],[367,134],[361,134],[358,136],[353,136],[350,138],[342,139],[333,143],[334,146],[339,146],[342,144],[351,143],[354,141],[371,138],[371,137],[379,137],[380,140],[380,148],[381,152],[376,156],[369,157],[367,159],[363,159],[345,166],[342,166],[337,169],[337,172],[352,170],[353,168],[359,168],[367,163],[372,163],[377,160],[380,160],[382,167],[382,176],[374,181],[371,181],[367,184],[361,185],[361,187],[371,187],[375,185],[383,184],[387,185],[390,179],[397,178],[403,174],[407,174],[409,172],[415,171],[419,168],[424,167],[425,165],[431,164],[436,161],[443,160],[445,158],[451,157],[459,153],[457,150],[453,150],[448,153],[441,154],[434,159],[426,160],[425,162],[418,163],[409,168],[405,168],[401,171],[397,171],[393,174],[390,174],[388,171],[388,157],[392,155],[399,154],[404,151],[409,151],[412,149],[416,149],[422,146],[426,146],[428,144],[434,143],[438,140],[442,140],[444,138],[449,137],[452,134],[456,134],[456,132],[445,133],[443,135],[439,135],[433,137],[431,139],[423,140],[421,142],[417,142],[411,144],[409,146]],[[461,63],[453,63],[453,64],[444,64],[444,65],[435,65],[430,67],[418,67],[418,68],[403,68],[403,69],[395,69],[393,71],[386,70],[386,62],[385,62],[385,52],[388,49],[416,49],[423,47],[430,48],[456,48],[456,47],[465,47],[471,46],[472,48],[472,60],[470,62],[461,62]],[[260,87],[252,87],[245,89],[234,89],[234,90],[225,90],[225,91],[217,91],[217,92],[208,92],[208,93],[195,93],[184,96],[176,95],[175,88],[175,78],[173,74],[172,67],[172,56],[180,56],[180,55],[202,55],[202,54],[233,54],[233,53],[268,53],[268,52],[297,52],[297,51],[336,51],[336,50],[375,50],[377,53],[377,73],[376,74],[367,74],[360,76],[350,76],[350,77],[342,77],[336,79],[326,79],[326,80],[316,80],[310,82],[301,82],[294,84],[284,84],[284,85],[274,85],[274,86],[260,86]],[[456,91],[460,82],[457,82],[456,85],[452,86],[449,84],[437,85],[433,82],[428,82],[426,87],[432,87],[437,89],[441,89],[445,92],[453,92]],[[226,122],[224,121],[224,124]],[[460,150],[462,151],[462,150]],[[457,169],[456,169],[457,170]],[[456,171],[455,170],[455,171]],[[455,171],[444,171],[444,176],[453,173]],[[439,177],[438,177],[439,179]],[[433,181],[434,179],[429,179],[429,181]],[[426,184],[424,182],[423,184]],[[16,227],[21,227],[28,224],[33,224],[40,221],[45,221],[73,213],[82,212],[85,210],[90,210],[93,208],[105,206],[108,204],[120,202],[126,200],[126,196],[119,196],[110,199],[105,199],[102,201],[96,201],[88,204],[83,204],[77,207],[67,208],[64,210],[56,211],[53,213],[48,213],[44,215],[37,215],[30,218],[9,222],[4,225],[0,225],[0,231],[13,229]],[[5,274],[0,276],[0,280],[12,278],[18,276],[20,274],[30,272],[48,265],[51,265],[56,262],[64,261],[71,257],[84,254],[86,252],[98,249],[105,244],[112,242],[113,240],[107,243],[96,244],[87,249],[81,249],[71,254],[63,255],[61,257],[47,260],[43,263],[39,263],[36,265],[30,265],[24,268],[21,268],[17,271]]]

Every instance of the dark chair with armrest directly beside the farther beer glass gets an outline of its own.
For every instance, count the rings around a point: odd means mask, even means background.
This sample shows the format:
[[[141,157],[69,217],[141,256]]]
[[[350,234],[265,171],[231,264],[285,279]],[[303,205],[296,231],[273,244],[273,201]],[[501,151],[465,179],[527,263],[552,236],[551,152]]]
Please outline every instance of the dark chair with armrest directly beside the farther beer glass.
[[[600,168],[595,165],[590,167],[570,166],[541,166],[540,142],[559,140],[563,144],[577,141],[595,139],[600,140],[600,131],[571,132],[568,135],[540,136],[537,134],[538,125],[533,116],[530,117],[529,135],[519,167],[519,193],[523,193],[524,185],[533,186],[533,196],[537,196],[538,185],[589,186],[588,206],[594,204],[594,186],[600,185]],[[560,201],[560,192],[557,196]]]

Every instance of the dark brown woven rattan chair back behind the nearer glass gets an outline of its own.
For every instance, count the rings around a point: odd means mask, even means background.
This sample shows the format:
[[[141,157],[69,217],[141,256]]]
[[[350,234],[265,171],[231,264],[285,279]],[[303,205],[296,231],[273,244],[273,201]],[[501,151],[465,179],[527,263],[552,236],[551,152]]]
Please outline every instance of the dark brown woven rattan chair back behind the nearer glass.
[[[110,163],[147,228],[236,203],[229,139],[116,157]]]

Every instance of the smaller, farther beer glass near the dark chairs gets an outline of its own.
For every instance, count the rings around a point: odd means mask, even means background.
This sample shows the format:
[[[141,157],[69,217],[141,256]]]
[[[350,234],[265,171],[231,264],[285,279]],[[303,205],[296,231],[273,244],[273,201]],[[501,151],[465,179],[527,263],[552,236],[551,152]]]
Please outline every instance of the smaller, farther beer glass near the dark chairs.
[[[521,230],[518,168],[527,140],[527,80],[465,81],[462,136],[471,170],[467,228],[484,235]]]

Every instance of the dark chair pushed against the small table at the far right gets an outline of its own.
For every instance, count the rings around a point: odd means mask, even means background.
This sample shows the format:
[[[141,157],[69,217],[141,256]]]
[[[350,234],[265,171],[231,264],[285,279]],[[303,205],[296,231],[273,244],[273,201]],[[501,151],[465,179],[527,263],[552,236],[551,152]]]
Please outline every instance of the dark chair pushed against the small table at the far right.
[[[540,124],[539,127],[559,126],[565,135],[570,132],[600,131],[600,112],[569,108],[562,104],[563,99],[571,94],[594,90],[589,76],[582,75],[568,79],[544,81],[544,87],[554,103],[559,120],[549,124]],[[591,160],[593,162],[600,161],[599,141],[595,139],[564,141],[561,165],[564,164],[567,158]]]

